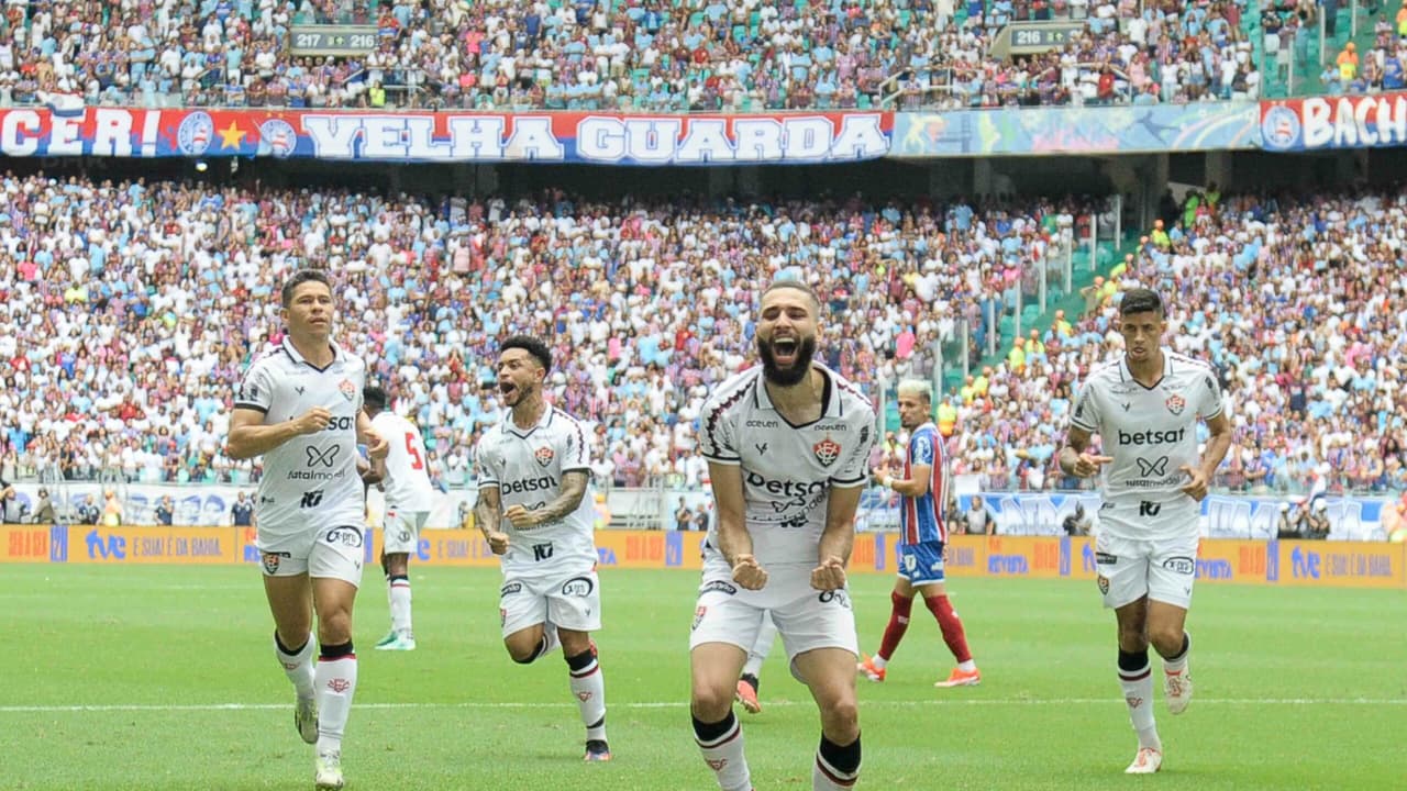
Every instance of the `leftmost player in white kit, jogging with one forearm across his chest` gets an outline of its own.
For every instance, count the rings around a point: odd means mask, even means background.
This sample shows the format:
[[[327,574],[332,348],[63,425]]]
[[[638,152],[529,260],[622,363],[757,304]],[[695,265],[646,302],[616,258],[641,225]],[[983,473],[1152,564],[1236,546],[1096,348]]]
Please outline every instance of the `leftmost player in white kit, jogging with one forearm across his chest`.
[[[315,785],[335,790],[357,680],[352,605],[366,539],[357,442],[371,459],[384,459],[387,443],[362,412],[364,365],[331,341],[336,303],[328,276],[300,270],[280,297],[287,335],[245,373],[225,453],[263,456],[256,524],[274,654],[297,694],[298,735],[317,743]]]

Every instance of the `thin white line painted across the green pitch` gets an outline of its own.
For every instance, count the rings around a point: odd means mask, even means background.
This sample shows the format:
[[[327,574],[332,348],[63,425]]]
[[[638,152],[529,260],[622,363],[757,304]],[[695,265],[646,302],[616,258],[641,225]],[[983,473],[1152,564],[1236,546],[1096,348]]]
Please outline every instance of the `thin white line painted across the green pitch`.
[[[767,707],[813,707],[812,701],[765,701]],[[975,698],[975,700],[926,700],[926,701],[861,701],[861,708],[920,708],[920,707],[1009,707],[1009,705],[1117,705],[1117,698]],[[1197,705],[1407,705],[1407,698],[1197,698]],[[684,708],[688,701],[640,701],[615,702],[611,708]],[[549,702],[512,702],[512,701],[483,701],[483,702],[405,702],[405,704],[355,704],[357,709],[474,709],[474,708],[523,708],[523,709],[554,709],[573,708],[574,704]],[[0,707],[0,714],[65,714],[65,712],[134,712],[134,711],[279,711],[288,708],[288,704],[97,704],[97,705],[7,705]]]

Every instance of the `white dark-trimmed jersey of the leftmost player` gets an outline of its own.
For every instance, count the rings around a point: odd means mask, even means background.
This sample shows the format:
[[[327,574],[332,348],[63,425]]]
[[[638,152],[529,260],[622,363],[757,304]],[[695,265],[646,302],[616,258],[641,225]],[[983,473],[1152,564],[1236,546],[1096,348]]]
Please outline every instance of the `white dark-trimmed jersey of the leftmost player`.
[[[294,419],[314,407],[332,412],[324,431],[265,453],[255,504],[260,540],[366,524],[366,491],[356,472],[356,418],[366,365],[336,343],[332,352],[332,363],[318,369],[284,338],[249,366],[235,396],[235,408],[263,412],[265,425]]]

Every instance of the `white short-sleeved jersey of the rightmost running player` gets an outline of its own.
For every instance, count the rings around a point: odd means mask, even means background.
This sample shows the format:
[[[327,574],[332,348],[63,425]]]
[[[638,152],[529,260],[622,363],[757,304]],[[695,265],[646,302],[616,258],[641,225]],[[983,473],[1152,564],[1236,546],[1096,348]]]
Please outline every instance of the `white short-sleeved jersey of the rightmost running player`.
[[[1162,379],[1144,387],[1124,357],[1090,372],[1071,424],[1097,434],[1110,462],[1100,470],[1102,531],[1124,538],[1197,532],[1197,501],[1180,491],[1196,467],[1197,421],[1221,414],[1221,387],[1203,362],[1162,349]]]

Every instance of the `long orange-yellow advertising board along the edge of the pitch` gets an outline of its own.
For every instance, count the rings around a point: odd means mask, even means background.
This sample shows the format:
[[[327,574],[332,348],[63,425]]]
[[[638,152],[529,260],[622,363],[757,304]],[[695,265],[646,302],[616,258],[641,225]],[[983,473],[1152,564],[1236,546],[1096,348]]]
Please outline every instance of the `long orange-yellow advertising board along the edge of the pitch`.
[[[381,531],[369,531],[366,563],[381,556]],[[253,528],[3,525],[0,563],[257,563]],[[597,563],[608,569],[702,566],[705,533],[598,531]],[[855,536],[850,570],[892,574],[895,533]],[[415,563],[498,567],[477,531],[425,531]],[[1203,539],[1197,580],[1258,586],[1407,588],[1407,545],[1321,540]],[[950,577],[1093,580],[1095,545],[1086,536],[951,536]]]

